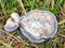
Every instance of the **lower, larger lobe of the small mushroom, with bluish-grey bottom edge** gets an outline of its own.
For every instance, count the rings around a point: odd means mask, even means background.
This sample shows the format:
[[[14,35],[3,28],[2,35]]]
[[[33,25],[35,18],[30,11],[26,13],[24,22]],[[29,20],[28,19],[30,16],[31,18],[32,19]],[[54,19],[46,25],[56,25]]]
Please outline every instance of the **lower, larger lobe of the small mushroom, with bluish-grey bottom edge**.
[[[9,18],[9,19],[6,20],[6,23],[5,23],[5,26],[4,26],[4,30],[5,30],[6,32],[12,32],[12,31],[16,30],[17,28],[18,28],[18,25],[15,23],[15,22],[13,22],[13,21],[12,21],[12,18]]]

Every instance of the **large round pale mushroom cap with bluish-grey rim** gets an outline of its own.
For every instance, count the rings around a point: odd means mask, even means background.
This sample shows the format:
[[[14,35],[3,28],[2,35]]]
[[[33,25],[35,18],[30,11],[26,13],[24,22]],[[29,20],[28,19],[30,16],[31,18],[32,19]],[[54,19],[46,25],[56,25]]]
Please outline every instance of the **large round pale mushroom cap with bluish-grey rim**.
[[[49,11],[32,10],[20,20],[21,31],[32,43],[54,37],[57,31],[55,16]]]

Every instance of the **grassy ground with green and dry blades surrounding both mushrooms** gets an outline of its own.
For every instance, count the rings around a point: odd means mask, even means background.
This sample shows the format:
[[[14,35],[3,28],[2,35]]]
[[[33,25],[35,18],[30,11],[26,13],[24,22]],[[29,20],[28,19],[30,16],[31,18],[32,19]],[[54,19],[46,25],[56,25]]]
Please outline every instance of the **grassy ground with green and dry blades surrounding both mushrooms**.
[[[21,16],[30,10],[52,12],[57,19],[54,38],[40,44],[30,43],[20,29],[8,33],[4,25],[14,12]],[[65,0],[0,0],[0,48],[65,48]]]

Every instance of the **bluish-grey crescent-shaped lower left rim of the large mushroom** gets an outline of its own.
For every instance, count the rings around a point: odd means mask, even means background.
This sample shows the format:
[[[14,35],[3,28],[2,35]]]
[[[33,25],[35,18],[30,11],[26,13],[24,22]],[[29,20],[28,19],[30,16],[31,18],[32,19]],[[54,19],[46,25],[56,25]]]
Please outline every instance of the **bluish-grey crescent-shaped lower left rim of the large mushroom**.
[[[27,33],[27,31],[25,29],[23,29],[22,27],[20,27],[20,28],[21,28],[23,35],[26,36],[31,43],[42,43],[42,42],[47,41],[46,38],[36,39],[36,38],[31,37],[30,34]]]

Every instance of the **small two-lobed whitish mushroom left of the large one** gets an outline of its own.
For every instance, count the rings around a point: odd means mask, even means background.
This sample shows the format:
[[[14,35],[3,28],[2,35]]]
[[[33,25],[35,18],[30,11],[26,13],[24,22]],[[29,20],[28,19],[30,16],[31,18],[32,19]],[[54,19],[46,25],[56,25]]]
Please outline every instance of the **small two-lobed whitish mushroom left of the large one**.
[[[12,13],[11,18],[6,20],[4,30],[6,32],[12,32],[18,28],[20,15],[17,13]]]

